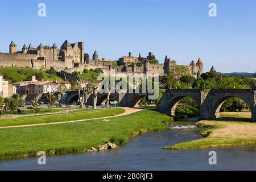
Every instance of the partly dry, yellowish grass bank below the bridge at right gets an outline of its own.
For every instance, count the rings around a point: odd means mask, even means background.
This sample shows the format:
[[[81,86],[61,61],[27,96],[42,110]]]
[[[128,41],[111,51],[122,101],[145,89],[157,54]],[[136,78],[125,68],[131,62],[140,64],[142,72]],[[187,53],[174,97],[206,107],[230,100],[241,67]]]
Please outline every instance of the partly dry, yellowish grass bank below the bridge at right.
[[[193,148],[218,148],[231,146],[247,146],[256,144],[256,123],[244,122],[250,113],[221,113],[216,121],[200,121],[197,126],[205,138],[191,142],[175,144],[165,149],[183,150]],[[227,117],[242,117],[242,119]],[[240,121],[239,121],[240,120]]]

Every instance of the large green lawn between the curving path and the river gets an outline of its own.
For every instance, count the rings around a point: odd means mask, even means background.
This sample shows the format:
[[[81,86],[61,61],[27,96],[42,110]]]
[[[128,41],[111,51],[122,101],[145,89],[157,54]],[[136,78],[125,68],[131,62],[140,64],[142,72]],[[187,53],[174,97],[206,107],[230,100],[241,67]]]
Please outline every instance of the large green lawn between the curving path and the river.
[[[166,130],[171,118],[142,110],[109,120],[1,129],[0,159],[35,156],[38,151],[47,155],[85,152],[108,142],[125,144],[146,131]]]

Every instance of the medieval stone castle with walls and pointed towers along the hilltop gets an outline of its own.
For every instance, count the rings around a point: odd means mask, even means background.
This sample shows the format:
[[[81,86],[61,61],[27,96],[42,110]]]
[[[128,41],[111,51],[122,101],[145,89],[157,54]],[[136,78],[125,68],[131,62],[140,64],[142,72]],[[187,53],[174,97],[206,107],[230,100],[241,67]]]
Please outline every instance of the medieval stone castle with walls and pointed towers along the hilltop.
[[[104,73],[110,71],[118,73],[158,73],[166,75],[172,71],[176,63],[166,56],[164,64],[151,64],[150,60],[155,59],[154,53],[149,52],[146,58],[123,56],[118,61],[106,61],[100,59],[97,51],[94,52],[92,60],[84,51],[84,42],[69,43],[68,40],[60,48],[54,43],[52,47],[43,46],[41,43],[37,48],[32,44],[26,44],[22,51],[17,50],[16,44],[12,41],[9,46],[9,53],[0,53],[1,67],[29,67],[35,69],[55,69],[56,71],[82,72],[86,69],[100,68]],[[115,64],[113,64],[115,62]],[[127,64],[129,63],[129,64]],[[178,65],[186,67],[192,76],[200,77],[204,72],[203,61],[199,58],[197,63],[192,61],[189,65]]]

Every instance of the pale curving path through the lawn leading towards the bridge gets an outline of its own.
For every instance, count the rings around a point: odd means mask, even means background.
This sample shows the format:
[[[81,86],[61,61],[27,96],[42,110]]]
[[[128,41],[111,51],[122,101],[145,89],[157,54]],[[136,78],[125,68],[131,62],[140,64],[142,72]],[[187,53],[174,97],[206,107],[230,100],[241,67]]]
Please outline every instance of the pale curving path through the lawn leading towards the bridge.
[[[137,113],[138,111],[141,111],[142,109],[137,109],[137,108],[130,108],[130,107],[121,107],[122,109],[125,109],[125,112],[122,114],[117,114],[114,116],[108,116],[108,117],[102,117],[102,118],[92,118],[92,119],[80,119],[76,121],[64,121],[64,122],[53,122],[53,123],[39,123],[39,124],[34,124],[34,125],[18,125],[18,126],[5,126],[5,127],[0,127],[0,129],[10,129],[10,128],[15,128],[15,127],[30,127],[30,126],[44,126],[44,125],[59,125],[59,124],[64,124],[64,123],[75,123],[75,122],[82,122],[82,121],[92,121],[96,119],[109,119],[109,118],[115,118],[115,117],[121,117],[124,115],[129,115],[133,113]]]

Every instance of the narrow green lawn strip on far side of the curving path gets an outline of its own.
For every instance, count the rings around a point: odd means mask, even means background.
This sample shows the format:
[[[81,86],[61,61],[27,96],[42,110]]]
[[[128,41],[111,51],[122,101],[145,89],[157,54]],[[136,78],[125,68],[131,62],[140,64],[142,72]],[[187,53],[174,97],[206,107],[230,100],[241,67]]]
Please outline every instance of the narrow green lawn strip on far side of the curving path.
[[[102,110],[84,110],[84,111],[78,111],[78,112],[74,111],[72,113],[67,113],[67,114],[53,114],[53,115],[40,115],[36,117],[2,119],[0,120],[0,127],[101,118],[101,117],[108,117],[113,114],[115,115],[121,114],[124,111],[125,110],[121,108],[114,108],[114,109],[102,109]]]

